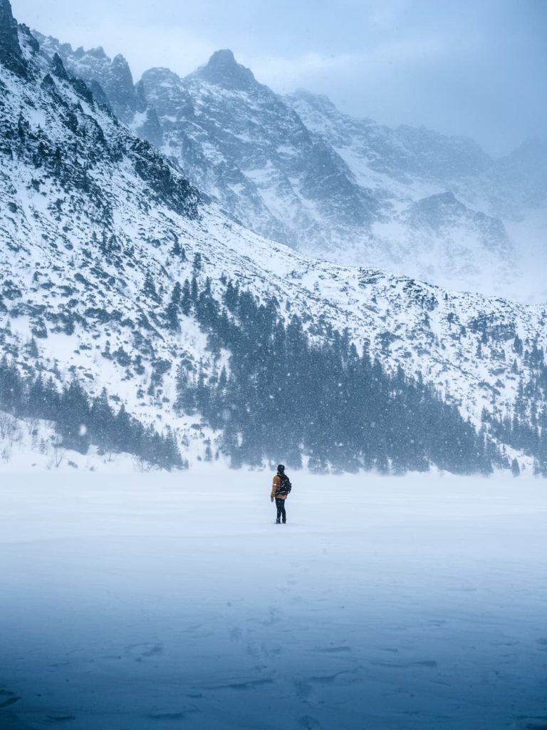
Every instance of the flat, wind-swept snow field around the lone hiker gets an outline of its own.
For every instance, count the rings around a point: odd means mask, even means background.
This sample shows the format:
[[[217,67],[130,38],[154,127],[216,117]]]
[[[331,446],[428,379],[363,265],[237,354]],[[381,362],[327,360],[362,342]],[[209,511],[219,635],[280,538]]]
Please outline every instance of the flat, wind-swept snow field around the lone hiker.
[[[547,726],[543,480],[291,476],[2,475],[0,728]]]

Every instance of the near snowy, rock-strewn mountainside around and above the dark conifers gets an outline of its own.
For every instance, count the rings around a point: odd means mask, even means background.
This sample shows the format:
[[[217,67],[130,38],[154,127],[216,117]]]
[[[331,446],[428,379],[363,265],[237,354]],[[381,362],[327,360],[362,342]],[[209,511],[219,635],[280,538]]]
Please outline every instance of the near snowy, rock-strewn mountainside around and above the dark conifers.
[[[7,0],[0,7],[9,28],[0,58],[0,347],[20,372],[77,377],[93,395],[106,388],[118,407],[158,430],[171,426],[183,449],[197,444],[199,453],[219,434],[175,408],[180,367],[206,382],[229,367],[230,353],[211,345],[197,299],[185,310],[180,289],[191,280],[221,309],[236,283],[281,320],[298,315],[312,341],[346,331],[387,372],[441,388],[477,429],[484,409],[513,412],[530,353],[547,345],[545,307],[325,263],[249,231],[12,24]],[[449,196],[435,205],[458,207]],[[419,206],[414,215],[424,215]]]

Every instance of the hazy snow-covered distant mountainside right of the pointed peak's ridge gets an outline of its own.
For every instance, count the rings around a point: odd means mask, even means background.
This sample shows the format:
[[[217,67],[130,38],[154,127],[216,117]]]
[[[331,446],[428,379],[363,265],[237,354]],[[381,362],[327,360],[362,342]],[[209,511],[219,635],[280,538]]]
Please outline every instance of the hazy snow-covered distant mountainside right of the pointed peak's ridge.
[[[542,145],[534,161],[524,161],[518,152],[492,160],[471,139],[355,119],[327,97],[306,91],[286,99],[361,185],[384,191],[392,210],[375,221],[373,236],[398,265],[408,264],[406,272],[456,288],[463,284],[489,293],[518,293],[524,299],[520,274],[533,281],[537,298],[544,298],[543,282],[527,266],[529,233],[514,225],[547,210]],[[511,162],[515,156],[518,173]],[[543,246],[535,250],[543,261]]]

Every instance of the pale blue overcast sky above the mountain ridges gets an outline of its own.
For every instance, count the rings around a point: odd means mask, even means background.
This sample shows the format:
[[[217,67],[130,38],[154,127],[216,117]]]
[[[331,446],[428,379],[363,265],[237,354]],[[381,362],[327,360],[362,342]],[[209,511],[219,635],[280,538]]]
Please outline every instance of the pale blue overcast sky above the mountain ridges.
[[[187,74],[231,48],[276,91],[326,93],[381,123],[475,138],[547,136],[547,0],[12,0],[72,45]]]

